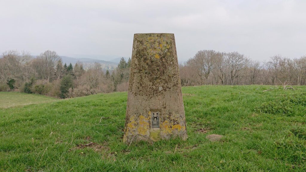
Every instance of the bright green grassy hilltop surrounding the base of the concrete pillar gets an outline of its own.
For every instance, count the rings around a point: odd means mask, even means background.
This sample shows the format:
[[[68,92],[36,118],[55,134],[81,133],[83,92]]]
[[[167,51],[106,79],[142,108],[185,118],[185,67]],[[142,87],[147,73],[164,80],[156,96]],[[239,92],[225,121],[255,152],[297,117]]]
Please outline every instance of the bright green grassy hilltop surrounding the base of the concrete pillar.
[[[126,92],[0,109],[0,171],[306,171],[306,87],[294,88],[184,87],[188,139],[153,145],[122,142]]]

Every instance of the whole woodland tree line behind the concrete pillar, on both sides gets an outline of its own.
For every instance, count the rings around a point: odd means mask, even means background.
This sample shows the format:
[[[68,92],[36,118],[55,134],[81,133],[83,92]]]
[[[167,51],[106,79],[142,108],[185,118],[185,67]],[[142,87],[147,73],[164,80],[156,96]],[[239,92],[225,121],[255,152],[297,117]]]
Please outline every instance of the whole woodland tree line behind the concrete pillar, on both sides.
[[[0,91],[19,90],[67,98],[127,91],[131,59],[121,58],[111,73],[95,63],[63,64],[55,51],[33,58],[28,52],[9,50],[0,58]],[[182,86],[211,85],[305,85],[306,56],[270,57],[265,62],[251,60],[238,52],[200,50],[179,65]]]

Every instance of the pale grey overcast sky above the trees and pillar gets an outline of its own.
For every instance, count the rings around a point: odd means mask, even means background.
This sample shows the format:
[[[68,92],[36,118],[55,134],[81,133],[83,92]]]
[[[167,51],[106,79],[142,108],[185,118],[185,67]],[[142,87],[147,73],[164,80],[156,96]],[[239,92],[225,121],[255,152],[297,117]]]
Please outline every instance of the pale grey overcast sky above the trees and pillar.
[[[0,0],[0,26],[0,52],[130,57],[134,33],[167,32],[181,61],[202,49],[306,54],[305,0]]]

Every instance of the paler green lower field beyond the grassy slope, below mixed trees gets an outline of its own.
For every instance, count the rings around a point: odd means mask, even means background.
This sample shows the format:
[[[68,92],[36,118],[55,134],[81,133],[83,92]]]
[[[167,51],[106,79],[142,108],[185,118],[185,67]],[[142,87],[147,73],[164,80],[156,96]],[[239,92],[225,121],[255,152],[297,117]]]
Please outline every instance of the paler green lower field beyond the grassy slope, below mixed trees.
[[[21,92],[0,92],[0,108],[44,103],[56,100],[52,97]]]

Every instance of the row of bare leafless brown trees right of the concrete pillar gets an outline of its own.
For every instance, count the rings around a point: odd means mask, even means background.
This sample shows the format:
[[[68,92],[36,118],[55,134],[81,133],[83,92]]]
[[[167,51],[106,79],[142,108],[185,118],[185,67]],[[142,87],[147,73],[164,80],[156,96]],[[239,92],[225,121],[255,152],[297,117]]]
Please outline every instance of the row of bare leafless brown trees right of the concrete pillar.
[[[305,85],[306,56],[274,55],[265,62],[238,52],[200,50],[180,65],[182,86],[211,85]]]

